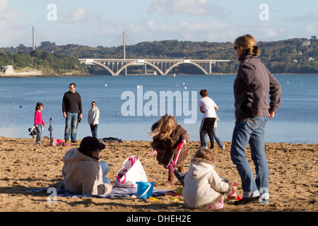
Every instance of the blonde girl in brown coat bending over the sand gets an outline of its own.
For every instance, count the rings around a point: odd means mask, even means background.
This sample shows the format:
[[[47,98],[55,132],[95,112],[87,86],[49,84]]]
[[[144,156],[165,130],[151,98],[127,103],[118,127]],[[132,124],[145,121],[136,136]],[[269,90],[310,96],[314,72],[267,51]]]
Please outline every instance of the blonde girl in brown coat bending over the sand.
[[[165,184],[173,185],[175,167],[178,168],[179,172],[183,172],[184,160],[187,157],[187,146],[185,144],[190,141],[189,134],[182,126],[177,124],[175,117],[167,114],[151,126],[151,132],[153,133],[151,135],[153,137],[153,142],[151,142],[153,152],[149,155],[157,155],[158,164],[168,169],[168,179]],[[178,152],[177,146],[182,142],[184,145],[175,162]]]

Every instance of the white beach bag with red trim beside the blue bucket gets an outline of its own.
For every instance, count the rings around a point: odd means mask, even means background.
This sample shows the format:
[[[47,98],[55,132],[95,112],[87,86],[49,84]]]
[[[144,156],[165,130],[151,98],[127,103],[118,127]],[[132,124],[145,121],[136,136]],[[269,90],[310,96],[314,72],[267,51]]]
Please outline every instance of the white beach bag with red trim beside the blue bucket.
[[[114,185],[119,188],[136,188],[136,182],[148,182],[148,178],[139,157],[132,155],[122,164]]]

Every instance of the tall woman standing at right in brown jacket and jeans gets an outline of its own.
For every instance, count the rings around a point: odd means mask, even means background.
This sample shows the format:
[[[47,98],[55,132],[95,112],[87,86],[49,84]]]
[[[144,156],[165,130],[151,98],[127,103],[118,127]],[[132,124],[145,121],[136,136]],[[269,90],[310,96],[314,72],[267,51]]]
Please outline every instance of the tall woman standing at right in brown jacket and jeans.
[[[257,56],[261,51],[252,35],[237,37],[234,49],[240,66],[233,85],[236,121],[230,155],[240,174],[243,189],[242,200],[234,204],[269,203],[269,166],[264,133],[267,119],[273,118],[281,105],[281,85],[259,61]],[[256,179],[245,157],[248,143]]]

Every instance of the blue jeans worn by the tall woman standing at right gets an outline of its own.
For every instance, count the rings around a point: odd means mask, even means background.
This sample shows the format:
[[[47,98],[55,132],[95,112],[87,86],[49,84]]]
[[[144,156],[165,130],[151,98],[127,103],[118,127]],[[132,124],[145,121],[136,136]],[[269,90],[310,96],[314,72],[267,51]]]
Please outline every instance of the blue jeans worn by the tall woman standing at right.
[[[256,196],[269,200],[269,165],[266,160],[264,133],[268,117],[257,116],[235,124],[230,155],[240,174],[243,198]],[[255,165],[256,179],[245,157],[247,143],[251,148],[251,158]]]

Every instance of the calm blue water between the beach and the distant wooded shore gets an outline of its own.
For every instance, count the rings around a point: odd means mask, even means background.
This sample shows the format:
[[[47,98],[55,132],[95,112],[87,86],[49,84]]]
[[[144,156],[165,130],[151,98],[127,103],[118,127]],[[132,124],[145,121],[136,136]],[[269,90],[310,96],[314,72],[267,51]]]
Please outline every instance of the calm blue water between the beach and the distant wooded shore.
[[[278,114],[266,126],[266,142],[318,143],[318,75],[276,75],[276,78],[282,85],[283,99]],[[42,102],[45,123],[49,125],[52,118],[53,136],[63,139],[65,119],[61,101],[69,83],[74,82],[83,105],[78,139],[91,135],[87,115],[90,103],[95,101],[100,109],[99,138],[116,136],[150,141],[147,133],[151,125],[172,107],[173,112],[167,113],[176,116],[192,141],[199,141],[203,116],[197,107],[199,90],[206,89],[219,107],[218,133],[223,141],[231,141],[235,121],[234,79],[232,75],[0,78],[0,136],[30,138],[28,128],[33,125],[35,105]],[[160,96],[169,92],[175,95],[173,102]],[[125,116],[129,110],[130,115]],[[184,119],[191,119],[191,124]],[[47,128],[43,135],[49,136]]]

